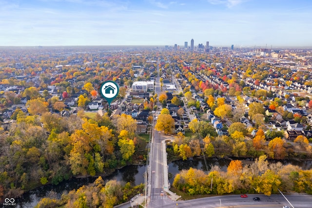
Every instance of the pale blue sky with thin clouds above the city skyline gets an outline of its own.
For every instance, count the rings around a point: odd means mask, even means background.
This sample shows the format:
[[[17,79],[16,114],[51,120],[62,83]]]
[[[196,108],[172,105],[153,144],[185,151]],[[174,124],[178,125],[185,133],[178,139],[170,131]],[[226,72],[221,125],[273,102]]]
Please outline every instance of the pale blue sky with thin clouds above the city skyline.
[[[0,46],[312,46],[312,0],[0,0]]]

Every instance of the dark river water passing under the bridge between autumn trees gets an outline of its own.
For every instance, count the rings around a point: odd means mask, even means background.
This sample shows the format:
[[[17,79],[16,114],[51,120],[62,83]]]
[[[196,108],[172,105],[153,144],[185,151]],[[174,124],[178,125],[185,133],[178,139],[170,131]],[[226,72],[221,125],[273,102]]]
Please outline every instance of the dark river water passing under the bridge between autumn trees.
[[[241,159],[244,165],[253,163],[252,159]],[[231,159],[217,159],[217,158],[208,158],[208,170],[212,166],[219,166],[222,171],[227,171],[227,167],[230,164]],[[269,163],[277,162],[276,160],[269,160]],[[312,161],[299,162],[293,160],[284,160],[281,161],[284,165],[292,164],[302,167],[302,169],[312,168]],[[190,167],[201,169],[207,172],[204,160],[202,158],[191,158],[186,161],[178,160],[173,163],[170,163],[168,172],[172,174],[172,178],[169,179],[170,184],[173,183],[176,173],[179,173],[182,169],[189,169]],[[144,172],[145,165],[140,166],[126,166],[121,169],[116,170],[112,175],[103,177],[105,181],[117,180],[121,183],[130,182],[133,185],[138,185],[144,183]],[[78,189],[83,185],[93,183],[97,177],[88,177],[88,178],[72,178],[68,181],[63,181],[59,185],[45,185],[38,187],[34,190],[24,193],[20,199],[17,199],[18,208],[32,208],[39,200],[43,197],[57,196],[60,198],[62,193],[67,193],[70,190]]]

